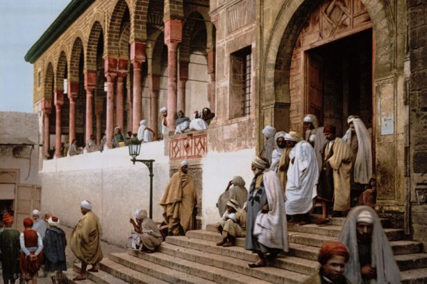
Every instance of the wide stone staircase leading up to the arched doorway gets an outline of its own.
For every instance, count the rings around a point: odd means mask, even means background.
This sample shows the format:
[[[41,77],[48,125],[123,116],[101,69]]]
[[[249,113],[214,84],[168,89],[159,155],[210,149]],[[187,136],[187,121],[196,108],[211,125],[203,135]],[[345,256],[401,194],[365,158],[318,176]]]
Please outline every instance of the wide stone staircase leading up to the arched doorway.
[[[403,230],[390,229],[389,220],[381,222],[387,228],[385,233],[401,269],[402,283],[427,283],[427,254],[422,253],[421,243],[404,240]],[[217,247],[221,236],[208,225],[206,230],[188,231],[186,236],[167,237],[153,254],[132,249],[110,254],[101,262],[102,271],[88,273],[87,278],[103,284],[301,283],[317,271],[319,247],[328,240],[337,240],[343,223],[344,218],[333,218],[330,224],[321,226],[289,223],[290,251],[279,255],[268,267],[248,267],[258,256],[244,249],[244,238],[238,238],[235,247]],[[74,265],[74,269],[79,266]]]

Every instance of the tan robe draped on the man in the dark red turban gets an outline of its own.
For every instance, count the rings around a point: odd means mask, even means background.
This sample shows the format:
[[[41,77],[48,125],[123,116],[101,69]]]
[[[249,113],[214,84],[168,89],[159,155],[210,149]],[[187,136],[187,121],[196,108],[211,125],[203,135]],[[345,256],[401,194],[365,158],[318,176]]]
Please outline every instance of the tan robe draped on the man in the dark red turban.
[[[333,168],[334,211],[350,209],[350,170],[353,154],[347,143],[340,138],[335,138],[333,143],[333,156],[328,163]]]

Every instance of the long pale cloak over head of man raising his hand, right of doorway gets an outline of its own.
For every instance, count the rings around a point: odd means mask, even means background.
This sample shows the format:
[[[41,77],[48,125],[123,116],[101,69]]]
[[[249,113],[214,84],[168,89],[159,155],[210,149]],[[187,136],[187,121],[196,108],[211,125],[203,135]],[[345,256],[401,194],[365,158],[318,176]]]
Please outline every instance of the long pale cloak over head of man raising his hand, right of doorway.
[[[360,118],[349,118],[348,123],[353,123],[355,134],[358,138],[358,154],[354,164],[354,182],[369,184],[372,177],[372,150],[371,136]],[[342,136],[347,144],[351,144],[351,128]]]

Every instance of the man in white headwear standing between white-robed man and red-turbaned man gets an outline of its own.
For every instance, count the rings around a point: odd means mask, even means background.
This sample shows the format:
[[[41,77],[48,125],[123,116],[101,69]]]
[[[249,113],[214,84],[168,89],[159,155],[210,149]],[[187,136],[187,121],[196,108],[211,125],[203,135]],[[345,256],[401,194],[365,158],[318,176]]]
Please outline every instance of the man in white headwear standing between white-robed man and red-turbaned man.
[[[319,127],[319,122],[314,114],[306,114],[303,118],[305,141],[308,141],[315,149],[317,166],[321,170],[321,150],[326,142],[324,127]]]

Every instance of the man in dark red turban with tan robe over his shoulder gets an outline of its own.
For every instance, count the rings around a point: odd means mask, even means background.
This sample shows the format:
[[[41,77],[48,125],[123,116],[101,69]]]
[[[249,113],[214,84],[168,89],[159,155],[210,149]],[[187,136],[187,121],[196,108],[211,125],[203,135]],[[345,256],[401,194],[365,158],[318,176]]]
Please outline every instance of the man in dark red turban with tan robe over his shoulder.
[[[322,218],[316,224],[329,221],[327,204],[333,202],[333,217],[342,215],[350,209],[350,169],[351,150],[342,139],[335,136],[335,127],[326,125],[324,134],[328,142],[321,152],[323,161],[317,198],[321,200]]]

